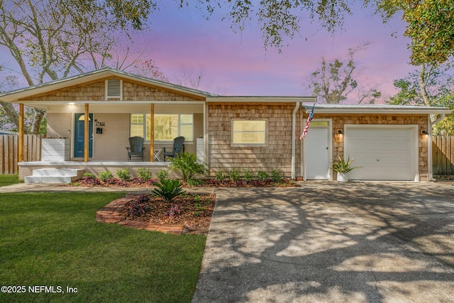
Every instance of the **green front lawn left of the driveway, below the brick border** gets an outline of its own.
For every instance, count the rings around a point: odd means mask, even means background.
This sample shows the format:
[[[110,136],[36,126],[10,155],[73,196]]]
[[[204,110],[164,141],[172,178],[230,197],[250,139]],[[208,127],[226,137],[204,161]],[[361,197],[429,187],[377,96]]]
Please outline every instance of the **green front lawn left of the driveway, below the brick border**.
[[[0,286],[26,286],[0,302],[191,302],[206,237],[96,222],[121,196],[0,194]],[[65,293],[29,292],[34,285]]]

